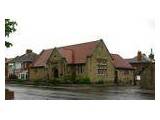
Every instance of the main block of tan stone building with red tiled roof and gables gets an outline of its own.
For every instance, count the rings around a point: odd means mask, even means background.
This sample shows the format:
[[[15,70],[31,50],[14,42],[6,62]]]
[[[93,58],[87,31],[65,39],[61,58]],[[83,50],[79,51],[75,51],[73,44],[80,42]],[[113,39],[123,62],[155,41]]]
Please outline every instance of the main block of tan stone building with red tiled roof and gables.
[[[103,40],[43,50],[35,60],[30,79],[88,77],[91,82],[113,82],[112,56]]]

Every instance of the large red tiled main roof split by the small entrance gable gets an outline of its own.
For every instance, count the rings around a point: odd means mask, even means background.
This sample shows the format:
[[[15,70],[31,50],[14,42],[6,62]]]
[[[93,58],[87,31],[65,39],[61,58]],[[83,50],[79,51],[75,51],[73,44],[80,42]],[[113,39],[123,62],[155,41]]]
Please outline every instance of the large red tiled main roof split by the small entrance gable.
[[[47,62],[48,58],[50,57],[50,55],[54,49],[58,50],[58,52],[62,55],[62,57],[66,58],[66,60],[69,64],[73,64],[71,62],[73,58],[75,59],[76,63],[84,63],[87,55],[91,54],[91,52],[92,52],[91,50],[94,49],[97,46],[97,44],[99,44],[100,41],[102,41],[102,40],[67,45],[67,46],[62,46],[62,47],[54,47],[54,48],[49,48],[49,49],[43,49],[42,52],[39,54],[39,57],[36,59],[36,61],[38,61],[38,62],[35,61],[34,65],[35,66],[40,66],[40,65],[44,66],[44,64]],[[66,48],[69,48],[69,47],[71,47],[71,49],[74,50],[74,54],[71,54],[71,56],[70,56],[70,53],[68,53],[65,50]],[[80,52],[79,49],[82,51]],[[74,57],[72,57],[72,56],[74,56]],[[44,58],[43,60],[39,60],[41,57],[46,57],[46,58]]]

